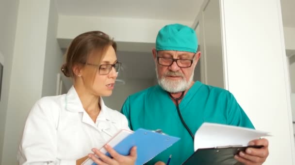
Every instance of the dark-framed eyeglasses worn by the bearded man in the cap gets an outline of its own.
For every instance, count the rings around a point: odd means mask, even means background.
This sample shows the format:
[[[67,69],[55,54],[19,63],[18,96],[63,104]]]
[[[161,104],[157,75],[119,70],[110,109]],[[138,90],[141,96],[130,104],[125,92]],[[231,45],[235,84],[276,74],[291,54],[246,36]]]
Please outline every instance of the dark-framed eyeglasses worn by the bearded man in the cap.
[[[170,58],[170,57],[159,57],[157,54],[157,60],[158,63],[162,66],[170,67],[173,62],[175,61],[177,66],[180,68],[189,68],[192,66],[195,55],[193,56],[193,59],[182,59],[182,58]]]

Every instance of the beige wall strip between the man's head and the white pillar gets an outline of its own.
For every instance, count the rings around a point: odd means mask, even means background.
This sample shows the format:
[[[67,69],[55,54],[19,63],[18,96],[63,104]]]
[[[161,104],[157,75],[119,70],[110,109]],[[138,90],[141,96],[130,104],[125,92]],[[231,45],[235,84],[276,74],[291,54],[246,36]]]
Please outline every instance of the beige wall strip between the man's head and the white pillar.
[[[195,28],[201,52],[195,80],[224,88],[219,1],[204,0],[191,27]]]

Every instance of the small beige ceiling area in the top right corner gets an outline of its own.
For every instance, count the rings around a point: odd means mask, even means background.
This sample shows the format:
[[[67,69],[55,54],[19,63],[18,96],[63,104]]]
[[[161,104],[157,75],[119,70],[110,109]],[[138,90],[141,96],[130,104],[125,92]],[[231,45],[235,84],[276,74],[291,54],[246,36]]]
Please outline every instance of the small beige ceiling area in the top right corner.
[[[281,0],[283,26],[295,28],[295,0]]]

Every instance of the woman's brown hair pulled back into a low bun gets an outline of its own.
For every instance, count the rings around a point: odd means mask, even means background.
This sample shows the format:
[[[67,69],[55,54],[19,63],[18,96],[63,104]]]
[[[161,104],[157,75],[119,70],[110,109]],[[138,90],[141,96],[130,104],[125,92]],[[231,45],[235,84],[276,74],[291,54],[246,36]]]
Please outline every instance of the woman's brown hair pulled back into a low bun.
[[[86,65],[89,55],[94,52],[98,54],[96,63],[99,64],[109,46],[112,46],[116,52],[116,42],[101,31],[89,31],[80,34],[67,48],[66,63],[61,68],[62,72],[66,77],[74,78],[74,65]]]

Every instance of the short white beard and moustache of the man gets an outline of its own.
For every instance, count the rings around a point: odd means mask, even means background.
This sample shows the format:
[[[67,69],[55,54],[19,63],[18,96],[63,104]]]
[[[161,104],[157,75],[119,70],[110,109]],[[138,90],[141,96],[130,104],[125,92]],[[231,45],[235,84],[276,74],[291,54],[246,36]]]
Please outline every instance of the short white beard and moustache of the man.
[[[185,80],[185,77],[182,73],[180,72],[168,72],[166,74],[163,75],[163,77],[161,79],[159,79],[159,74],[158,74],[158,67],[156,65],[156,74],[157,74],[157,80],[159,85],[167,92],[169,93],[179,93],[179,92],[183,92],[185,90],[187,90],[191,83],[193,82],[193,78],[194,78],[194,72],[192,73],[191,77],[189,78],[188,81]],[[166,79],[165,76],[167,76],[167,74],[175,74],[177,76],[181,76],[182,79],[181,80],[169,80]]]

